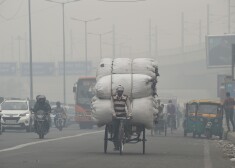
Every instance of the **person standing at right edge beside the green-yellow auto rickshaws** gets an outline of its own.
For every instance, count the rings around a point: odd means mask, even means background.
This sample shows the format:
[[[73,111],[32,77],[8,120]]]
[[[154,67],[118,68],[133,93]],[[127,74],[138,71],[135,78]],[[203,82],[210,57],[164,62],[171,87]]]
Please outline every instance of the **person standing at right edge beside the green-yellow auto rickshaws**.
[[[230,93],[226,93],[226,99],[224,100],[224,110],[225,110],[225,116],[226,116],[226,123],[228,127],[228,131],[230,131],[229,121],[231,122],[233,126],[233,132],[235,131],[234,127],[234,120],[233,120],[233,106],[235,105],[235,101],[233,98],[230,97]]]

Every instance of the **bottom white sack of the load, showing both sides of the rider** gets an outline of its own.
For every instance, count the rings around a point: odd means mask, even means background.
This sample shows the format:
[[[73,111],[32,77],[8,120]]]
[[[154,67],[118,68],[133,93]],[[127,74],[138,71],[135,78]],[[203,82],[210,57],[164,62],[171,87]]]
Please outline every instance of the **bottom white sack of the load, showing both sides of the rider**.
[[[154,108],[154,100],[152,97],[134,99],[131,105],[132,123],[143,124],[147,129],[153,127],[154,114],[158,113]],[[111,100],[93,98],[92,100],[92,116],[98,126],[112,122]]]

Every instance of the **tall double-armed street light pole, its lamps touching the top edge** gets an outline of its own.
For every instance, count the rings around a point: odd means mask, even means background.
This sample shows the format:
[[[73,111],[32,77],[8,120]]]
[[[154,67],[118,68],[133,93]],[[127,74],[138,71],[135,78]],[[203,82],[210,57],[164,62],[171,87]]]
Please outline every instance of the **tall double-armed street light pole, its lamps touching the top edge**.
[[[65,26],[64,26],[64,5],[67,3],[71,3],[71,2],[76,2],[76,1],[80,1],[80,0],[73,0],[73,1],[67,1],[67,2],[57,2],[57,1],[53,1],[53,0],[46,0],[49,2],[53,2],[53,3],[58,3],[62,5],[62,27],[63,27],[63,96],[64,96],[64,104],[66,104],[66,67],[65,67]]]

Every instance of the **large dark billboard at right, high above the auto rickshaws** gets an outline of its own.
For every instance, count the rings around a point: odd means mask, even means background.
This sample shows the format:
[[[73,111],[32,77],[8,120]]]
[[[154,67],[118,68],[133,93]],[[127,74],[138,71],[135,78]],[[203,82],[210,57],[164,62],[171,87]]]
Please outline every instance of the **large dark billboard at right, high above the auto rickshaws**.
[[[231,66],[232,44],[235,44],[235,34],[206,36],[207,66]]]

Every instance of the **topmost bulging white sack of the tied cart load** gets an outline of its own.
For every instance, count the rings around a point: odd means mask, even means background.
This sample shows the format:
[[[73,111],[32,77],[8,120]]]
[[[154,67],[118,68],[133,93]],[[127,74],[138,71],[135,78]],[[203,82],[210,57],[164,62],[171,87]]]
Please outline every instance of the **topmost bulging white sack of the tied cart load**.
[[[143,74],[151,77],[155,77],[155,68],[157,63],[153,59],[149,58],[103,58],[100,61],[98,69],[96,71],[96,79],[112,74]]]

